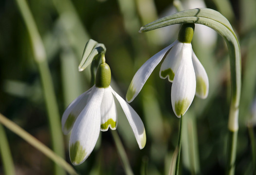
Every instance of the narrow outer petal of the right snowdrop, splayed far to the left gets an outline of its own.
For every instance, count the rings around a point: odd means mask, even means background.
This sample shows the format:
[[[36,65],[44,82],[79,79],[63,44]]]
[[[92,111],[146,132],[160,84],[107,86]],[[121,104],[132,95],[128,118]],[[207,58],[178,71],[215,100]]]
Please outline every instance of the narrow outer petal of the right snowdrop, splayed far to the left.
[[[126,94],[126,101],[128,103],[132,102],[134,98],[138,95],[138,93],[141,91],[142,87],[146,83],[146,80],[148,79],[149,75],[152,73],[152,71],[156,68],[156,66],[160,63],[165,54],[170,50],[170,48],[174,44],[175,42],[167,46],[162,51],[156,53],[151,58],[149,58],[142,65],[142,67],[135,73]]]

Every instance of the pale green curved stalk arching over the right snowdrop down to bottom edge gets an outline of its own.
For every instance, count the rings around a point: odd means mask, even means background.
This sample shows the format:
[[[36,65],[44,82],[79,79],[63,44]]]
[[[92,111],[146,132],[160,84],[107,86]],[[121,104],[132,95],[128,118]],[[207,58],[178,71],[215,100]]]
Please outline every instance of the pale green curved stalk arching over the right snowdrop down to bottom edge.
[[[235,174],[238,113],[241,93],[241,53],[238,38],[229,21],[224,16],[215,10],[207,8],[185,10],[160,18],[141,27],[140,31],[146,32],[173,24],[183,23],[197,23],[214,29],[225,39],[228,46],[231,71],[231,102],[228,120],[229,143],[227,149],[226,173],[233,175]]]

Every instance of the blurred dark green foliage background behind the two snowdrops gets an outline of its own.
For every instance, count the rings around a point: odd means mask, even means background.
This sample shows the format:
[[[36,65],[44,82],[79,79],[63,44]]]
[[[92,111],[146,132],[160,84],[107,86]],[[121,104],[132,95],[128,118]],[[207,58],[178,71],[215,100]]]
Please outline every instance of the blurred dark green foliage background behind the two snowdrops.
[[[0,113],[52,148],[44,89],[17,1],[0,1]],[[111,86],[125,98],[135,72],[148,58],[176,40],[180,27],[138,33],[141,26],[177,12],[172,0],[27,0],[27,3],[46,51],[59,122],[67,105],[90,88],[90,68],[78,72],[84,46],[90,38],[105,44]],[[183,0],[182,3],[184,9],[205,5],[219,11],[238,35],[243,84],[236,174],[252,175],[256,165],[252,162],[247,123],[256,96],[256,1]],[[198,28],[196,25],[195,31]],[[208,74],[210,88],[208,98],[195,97],[184,115],[181,173],[224,174],[230,102],[227,47],[214,31],[195,34],[192,47]],[[179,119],[171,107],[171,83],[159,78],[159,70],[160,66],[130,104],[145,124],[147,142],[143,150],[139,150],[119,109],[117,132],[135,175],[167,175],[178,142]],[[2,131],[7,136],[17,175],[54,174],[52,160],[10,130]],[[91,156],[74,167],[79,174],[125,174],[110,132],[101,132]],[[64,136],[61,145],[65,159],[70,162],[68,141],[69,136]],[[4,174],[2,162],[1,159],[0,175]]]

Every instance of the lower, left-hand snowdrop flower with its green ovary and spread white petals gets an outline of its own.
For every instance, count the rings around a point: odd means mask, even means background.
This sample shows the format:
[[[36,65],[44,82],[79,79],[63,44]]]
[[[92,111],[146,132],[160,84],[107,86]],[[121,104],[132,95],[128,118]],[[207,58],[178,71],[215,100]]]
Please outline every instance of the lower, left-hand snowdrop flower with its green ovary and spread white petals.
[[[62,116],[62,130],[68,134],[70,159],[79,165],[90,156],[100,131],[117,127],[117,110],[114,97],[120,103],[132,128],[140,149],[146,144],[146,132],[142,120],[133,108],[111,87],[111,72],[105,57],[96,72],[95,85],[77,97]]]

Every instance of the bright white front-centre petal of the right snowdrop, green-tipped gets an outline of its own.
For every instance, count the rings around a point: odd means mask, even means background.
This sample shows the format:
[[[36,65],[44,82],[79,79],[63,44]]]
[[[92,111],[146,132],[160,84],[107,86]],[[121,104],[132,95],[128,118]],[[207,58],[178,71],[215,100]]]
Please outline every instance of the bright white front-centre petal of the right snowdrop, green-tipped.
[[[196,76],[192,64],[192,48],[183,50],[181,65],[174,76],[171,88],[172,109],[181,117],[191,105],[196,92]]]

